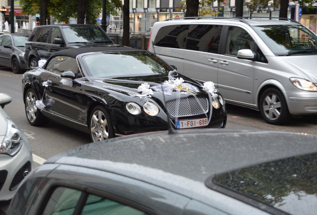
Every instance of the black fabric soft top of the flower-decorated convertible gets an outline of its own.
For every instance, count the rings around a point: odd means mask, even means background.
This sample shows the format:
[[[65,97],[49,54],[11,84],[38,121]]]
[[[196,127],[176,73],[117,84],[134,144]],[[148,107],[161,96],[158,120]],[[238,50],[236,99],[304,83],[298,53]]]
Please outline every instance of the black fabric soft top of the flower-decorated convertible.
[[[69,56],[76,58],[78,55],[89,52],[104,52],[104,51],[142,51],[140,49],[134,49],[127,46],[109,45],[98,47],[85,47],[85,48],[70,48],[57,51],[50,56],[50,59],[56,56]]]

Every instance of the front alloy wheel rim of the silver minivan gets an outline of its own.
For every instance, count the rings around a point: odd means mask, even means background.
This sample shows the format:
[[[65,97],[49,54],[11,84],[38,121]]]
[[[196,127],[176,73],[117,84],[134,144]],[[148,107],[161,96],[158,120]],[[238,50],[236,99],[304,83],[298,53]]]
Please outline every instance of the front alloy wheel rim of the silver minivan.
[[[275,120],[281,115],[281,101],[276,94],[268,94],[263,101],[263,111],[270,120]]]

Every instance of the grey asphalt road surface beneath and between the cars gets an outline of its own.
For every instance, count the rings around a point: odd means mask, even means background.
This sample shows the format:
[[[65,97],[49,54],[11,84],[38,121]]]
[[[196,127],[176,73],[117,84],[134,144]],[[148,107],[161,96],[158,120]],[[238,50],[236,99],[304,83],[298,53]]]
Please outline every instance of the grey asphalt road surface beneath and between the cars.
[[[4,110],[29,139],[33,166],[42,164],[45,159],[68,149],[90,142],[86,133],[50,122],[44,127],[31,126],[26,119],[21,92],[21,74],[13,74],[10,69],[0,68],[0,93],[12,97],[12,102]],[[228,122],[225,129],[266,129],[289,132],[317,134],[317,115],[291,118],[287,125],[267,124],[259,111],[227,105]],[[0,203],[5,209],[7,203]],[[3,212],[2,212],[3,213]]]

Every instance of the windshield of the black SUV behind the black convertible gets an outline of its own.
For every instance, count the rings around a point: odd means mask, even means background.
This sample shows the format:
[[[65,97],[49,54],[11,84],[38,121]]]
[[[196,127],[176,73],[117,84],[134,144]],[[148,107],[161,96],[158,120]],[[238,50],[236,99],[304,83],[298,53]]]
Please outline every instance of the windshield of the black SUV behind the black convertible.
[[[113,43],[99,27],[80,26],[62,28],[68,43]]]

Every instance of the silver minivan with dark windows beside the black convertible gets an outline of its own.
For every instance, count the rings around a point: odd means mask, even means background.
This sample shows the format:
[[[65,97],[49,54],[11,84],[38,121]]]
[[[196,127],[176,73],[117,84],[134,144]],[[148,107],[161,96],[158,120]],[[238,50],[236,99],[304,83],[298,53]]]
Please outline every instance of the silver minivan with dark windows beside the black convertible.
[[[317,36],[294,20],[166,20],[149,44],[179,73],[213,81],[227,103],[260,110],[268,123],[317,113]]]

